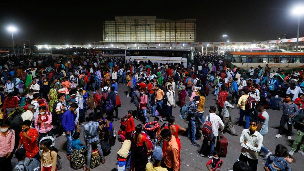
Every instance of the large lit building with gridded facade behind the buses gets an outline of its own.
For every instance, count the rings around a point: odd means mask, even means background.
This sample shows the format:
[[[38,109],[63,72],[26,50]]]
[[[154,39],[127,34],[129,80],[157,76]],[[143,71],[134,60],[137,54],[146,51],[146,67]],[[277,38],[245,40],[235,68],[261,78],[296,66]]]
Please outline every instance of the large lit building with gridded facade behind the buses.
[[[155,16],[115,17],[103,22],[104,42],[194,42],[195,19],[166,20]]]

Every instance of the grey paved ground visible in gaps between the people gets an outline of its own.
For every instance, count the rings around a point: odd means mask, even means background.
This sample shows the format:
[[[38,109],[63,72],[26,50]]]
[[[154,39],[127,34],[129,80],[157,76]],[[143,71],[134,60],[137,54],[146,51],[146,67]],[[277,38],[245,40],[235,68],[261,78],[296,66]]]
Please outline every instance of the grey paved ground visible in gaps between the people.
[[[125,85],[118,85],[118,94],[121,98],[122,107],[118,109],[119,116],[123,116],[127,114],[128,110],[134,110],[136,109],[134,104],[130,103],[130,98],[126,97],[125,91],[126,91]],[[211,93],[213,89],[211,88]],[[92,92],[90,92],[92,93]],[[176,101],[178,99],[178,96],[176,96]],[[189,102],[189,98],[186,99],[187,103]],[[209,111],[210,106],[216,106],[215,105],[215,96],[209,95],[206,98],[205,102],[205,116],[207,115],[207,112]],[[235,106],[236,107],[236,106]],[[88,110],[87,114],[91,112]],[[279,121],[282,116],[282,111],[274,111],[274,110],[267,110],[269,114],[269,131],[266,136],[264,136],[263,144],[264,146],[270,150],[271,152],[274,152],[275,146],[278,144],[283,144],[287,147],[288,151],[291,150],[292,141],[288,141],[286,136],[283,136],[279,139],[275,138],[274,136],[278,133],[278,126]],[[179,126],[182,126],[184,128],[188,127],[188,122],[184,121],[183,119],[180,119],[179,117],[179,107],[173,108],[173,116],[176,118],[176,124]],[[237,121],[239,119],[239,109],[235,108],[232,110],[232,119],[233,121]],[[149,121],[152,121],[153,118],[149,118]],[[135,126],[137,124],[140,124],[140,121],[134,120]],[[245,118],[244,118],[245,121]],[[115,130],[118,130],[118,126],[120,125],[120,121],[114,121],[113,126]],[[285,126],[287,128],[287,126]],[[233,164],[235,163],[236,159],[240,156],[240,150],[241,146],[239,145],[240,140],[240,134],[243,130],[243,128],[235,125],[236,132],[239,134],[239,136],[231,136],[228,133],[224,133],[228,140],[228,154],[226,158],[221,158],[223,160],[223,166],[222,170],[230,170],[232,169]],[[83,132],[83,127],[80,127],[80,130]],[[292,131],[294,134],[296,133],[295,130]],[[292,139],[295,139],[296,135],[292,136]],[[80,135],[80,140],[83,141],[83,133]],[[202,140],[197,140],[197,143],[202,145]],[[55,140],[55,147],[59,149],[59,155],[61,156],[61,161],[63,163],[63,168],[61,170],[74,170],[70,167],[69,161],[65,158],[66,156],[66,138],[65,136],[58,137],[57,140]],[[181,136],[181,169],[180,170],[207,170],[206,163],[209,160],[207,157],[201,157],[198,156],[197,150],[200,149],[200,147],[195,147],[191,145],[190,140],[187,140],[187,137]],[[121,144],[116,140],[116,144],[112,146],[111,154],[109,154],[106,158],[106,163],[101,164],[97,168],[94,168],[92,170],[104,170],[104,171],[111,171],[113,168],[117,167],[117,151],[121,147]],[[302,170],[301,165],[302,162],[304,162],[304,157],[296,153],[293,155],[296,159],[296,163],[291,164],[292,170]],[[17,159],[12,159],[12,165],[14,166],[17,163]],[[261,157],[259,157],[259,164],[258,164],[258,170],[264,170],[265,160],[263,160]]]

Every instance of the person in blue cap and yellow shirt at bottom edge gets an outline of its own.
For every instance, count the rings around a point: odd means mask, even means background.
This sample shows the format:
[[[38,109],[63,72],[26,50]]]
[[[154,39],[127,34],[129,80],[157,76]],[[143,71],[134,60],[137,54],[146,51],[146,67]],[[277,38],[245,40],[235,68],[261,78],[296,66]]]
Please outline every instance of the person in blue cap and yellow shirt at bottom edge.
[[[152,158],[154,159],[154,163],[153,164],[151,162],[147,163],[146,171],[168,171],[168,169],[160,166],[160,162],[163,159],[163,150],[161,149],[160,146],[154,147]]]

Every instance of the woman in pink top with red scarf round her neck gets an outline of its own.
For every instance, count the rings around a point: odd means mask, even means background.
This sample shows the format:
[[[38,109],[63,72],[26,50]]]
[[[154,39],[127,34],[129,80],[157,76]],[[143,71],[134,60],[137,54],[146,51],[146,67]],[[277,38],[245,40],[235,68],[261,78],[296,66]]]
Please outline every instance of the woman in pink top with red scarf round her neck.
[[[35,129],[40,135],[38,142],[41,138],[46,135],[54,136],[53,125],[52,125],[52,113],[46,112],[45,106],[39,107],[39,115],[35,119]]]

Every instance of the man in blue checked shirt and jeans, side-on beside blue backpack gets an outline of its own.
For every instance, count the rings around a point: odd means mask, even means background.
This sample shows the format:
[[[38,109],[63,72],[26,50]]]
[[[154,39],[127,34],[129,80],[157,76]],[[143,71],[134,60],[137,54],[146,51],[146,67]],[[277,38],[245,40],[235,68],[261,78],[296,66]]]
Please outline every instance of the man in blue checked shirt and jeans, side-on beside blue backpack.
[[[197,110],[197,104],[199,103],[199,96],[195,96],[194,99],[189,103],[188,108],[188,138],[191,140],[191,145],[199,147],[200,145],[195,142],[195,133],[196,133],[196,113],[201,110]]]

